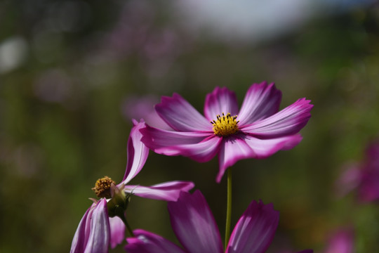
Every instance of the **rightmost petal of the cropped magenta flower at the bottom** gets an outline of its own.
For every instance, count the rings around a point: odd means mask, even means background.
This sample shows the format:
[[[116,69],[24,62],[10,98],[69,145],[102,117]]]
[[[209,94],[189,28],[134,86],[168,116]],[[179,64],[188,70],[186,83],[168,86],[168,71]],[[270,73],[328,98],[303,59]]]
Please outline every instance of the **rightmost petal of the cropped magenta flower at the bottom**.
[[[237,222],[226,253],[263,253],[274,238],[279,223],[279,212],[272,204],[251,202]]]

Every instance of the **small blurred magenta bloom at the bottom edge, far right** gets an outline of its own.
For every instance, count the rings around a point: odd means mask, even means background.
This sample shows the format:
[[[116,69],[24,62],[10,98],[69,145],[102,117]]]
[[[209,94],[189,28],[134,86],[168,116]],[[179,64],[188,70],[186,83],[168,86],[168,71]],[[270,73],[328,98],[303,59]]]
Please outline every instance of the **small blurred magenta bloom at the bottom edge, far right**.
[[[324,253],[353,253],[354,233],[352,229],[341,229],[331,235]]]

